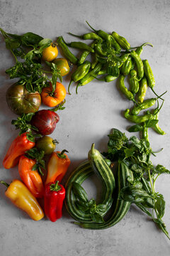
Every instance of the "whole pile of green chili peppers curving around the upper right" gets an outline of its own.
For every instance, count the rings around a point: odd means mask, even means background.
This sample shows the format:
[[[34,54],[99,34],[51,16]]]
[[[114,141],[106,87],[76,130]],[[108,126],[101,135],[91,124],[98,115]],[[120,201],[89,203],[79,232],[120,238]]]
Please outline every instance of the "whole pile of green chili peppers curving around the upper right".
[[[105,31],[96,31],[86,21],[92,32],[85,33],[82,36],[72,36],[82,40],[91,40],[88,45],[81,41],[66,43],[62,36],[57,38],[57,45],[69,62],[76,65],[77,68],[71,75],[68,92],[72,82],[77,83],[76,92],[79,86],[84,86],[94,79],[104,82],[112,82],[119,79],[120,92],[134,104],[132,110],[127,109],[124,116],[130,122],[135,123],[128,131],[140,132],[143,139],[148,137],[148,128],[153,128],[158,134],[164,135],[165,132],[159,127],[159,112],[164,103],[162,95],[157,95],[154,91],[154,75],[148,60],[142,60],[140,55],[144,46],[152,46],[151,43],[143,43],[142,46],[131,47],[130,43],[118,33],[113,31],[111,34]],[[152,46],[153,47],[153,46]],[[69,48],[77,48],[81,55],[77,58]],[[86,60],[88,58],[88,60]],[[90,58],[90,60],[89,60]],[[125,86],[125,78],[128,77],[129,86]],[[148,87],[154,92],[155,97],[145,100]],[[159,100],[162,104],[159,107]],[[149,111],[149,107],[157,104],[154,110]],[[139,115],[142,110],[146,112]]]

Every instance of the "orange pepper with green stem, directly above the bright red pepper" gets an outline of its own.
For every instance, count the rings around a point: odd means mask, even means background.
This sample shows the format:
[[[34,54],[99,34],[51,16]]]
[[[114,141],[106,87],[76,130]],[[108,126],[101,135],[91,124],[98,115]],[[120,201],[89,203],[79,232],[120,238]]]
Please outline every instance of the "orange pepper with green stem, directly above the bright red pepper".
[[[53,152],[50,156],[47,164],[47,178],[45,184],[62,181],[62,178],[66,174],[70,164],[70,159],[67,154],[64,154],[64,152],[68,151],[64,149],[62,152]]]

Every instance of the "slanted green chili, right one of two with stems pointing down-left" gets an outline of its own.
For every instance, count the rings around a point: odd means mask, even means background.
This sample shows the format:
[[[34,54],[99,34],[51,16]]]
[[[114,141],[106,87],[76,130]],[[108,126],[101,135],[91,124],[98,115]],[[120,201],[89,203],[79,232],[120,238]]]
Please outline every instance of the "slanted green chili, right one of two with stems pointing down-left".
[[[102,64],[98,63],[93,70],[91,70],[89,73],[87,73],[84,76],[84,78],[81,78],[81,80],[79,80],[79,83],[77,84],[77,89],[78,89],[79,86],[84,86],[87,83],[94,80],[94,78],[98,75],[98,71],[101,70],[101,67],[102,67]],[[77,92],[77,89],[76,89],[76,92]]]

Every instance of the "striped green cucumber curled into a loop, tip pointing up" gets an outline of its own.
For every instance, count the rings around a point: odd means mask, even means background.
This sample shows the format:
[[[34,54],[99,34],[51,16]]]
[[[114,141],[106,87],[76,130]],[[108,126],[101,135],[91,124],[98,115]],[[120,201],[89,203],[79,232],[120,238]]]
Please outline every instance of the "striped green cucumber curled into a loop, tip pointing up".
[[[95,169],[93,169],[95,167]],[[102,203],[106,205],[106,211],[101,213],[102,216],[106,215],[108,210],[111,208],[113,202],[113,190],[115,189],[115,178],[113,173],[103,159],[103,156],[99,151],[94,149],[92,145],[91,151],[89,151],[89,161],[84,161],[81,165],[75,169],[66,184],[66,198],[65,206],[69,214],[75,220],[83,223],[92,223],[91,215],[89,213],[83,212],[77,208],[76,197],[72,191],[72,183],[77,182],[81,185],[83,181],[88,178],[91,174],[96,172],[103,181],[103,201]]]

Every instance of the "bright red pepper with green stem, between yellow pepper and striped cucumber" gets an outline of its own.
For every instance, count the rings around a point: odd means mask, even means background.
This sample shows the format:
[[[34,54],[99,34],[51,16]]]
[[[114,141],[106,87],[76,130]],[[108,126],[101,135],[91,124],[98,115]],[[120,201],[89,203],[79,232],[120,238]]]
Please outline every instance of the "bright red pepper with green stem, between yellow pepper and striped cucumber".
[[[59,181],[47,183],[45,186],[44,209],[45,215],[52,222],[62,217],[64,198],[65,188]]]

